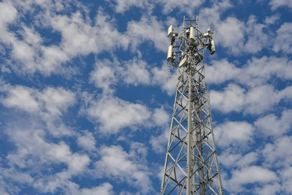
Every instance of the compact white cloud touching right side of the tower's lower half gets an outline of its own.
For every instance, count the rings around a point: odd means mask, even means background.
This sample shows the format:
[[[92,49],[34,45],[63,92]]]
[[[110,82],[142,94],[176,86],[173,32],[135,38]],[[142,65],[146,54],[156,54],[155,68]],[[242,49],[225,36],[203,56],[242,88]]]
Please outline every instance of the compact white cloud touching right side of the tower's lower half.
[[[245,121],[227,121],[214,128],[216,144],[221,147],[229,145],[246,146],[254,134],[253,125]]]

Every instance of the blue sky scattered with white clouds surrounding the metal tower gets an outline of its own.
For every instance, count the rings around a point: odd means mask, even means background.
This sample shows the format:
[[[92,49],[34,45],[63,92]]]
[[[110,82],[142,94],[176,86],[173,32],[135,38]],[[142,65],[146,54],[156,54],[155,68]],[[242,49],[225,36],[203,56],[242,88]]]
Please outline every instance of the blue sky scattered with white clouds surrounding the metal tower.
[[[225,195],[292,194],[291,0],[0,1],[0,194],[160,192],[176,89],[167,28],[214,32]]]

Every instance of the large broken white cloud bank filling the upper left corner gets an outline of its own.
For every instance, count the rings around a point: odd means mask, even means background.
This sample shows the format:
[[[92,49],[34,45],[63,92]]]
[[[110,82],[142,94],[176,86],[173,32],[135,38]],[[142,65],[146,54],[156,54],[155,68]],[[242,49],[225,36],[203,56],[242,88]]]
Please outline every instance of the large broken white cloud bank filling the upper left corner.
[[[58,2],[61,3],[61,2]],[[17,9],[23,10],[33,2],[15,3]],[[22,39],[11,33],[7,28],[7,22],[16,19],[17,11],[11,3],[1,3],[8,17],[2,17],[0,41],[11,49],[9,54],[12,63],[8,63],[19,75],[34,74],[39,72],[44,76],[62,74],[71,76],[77,74],[78,67],[72,65],[75,57],[87,56],[91,53],[99,54],[103,51],[113,51],[117,48],[127,49],[129,39],[115,28],[115,20],[111,19],[102,9],[97,11],[94,21],[87,15],[85,7],[78,6],[77,10],[69,16],[59,15],[54,3],[46,1],[41,4],[39,10],[35,10],[35,23],[32,27],[21,23],[18,30]],[[66,4],[62,2],[61,4]],[[54,4],[55,5],[55,4]],[[66,6],[69,6],[67,4]],[[85,13],[83,16],[81,13]],[[29,13],[28,13],[29,14]],[[22,20],[20,15],[19,20]],[[1,22],[1,16],[0,16]],[[60,33],[60,42],[56,45],[45,45],[33,25],[38,28],[51,29],[52,33]],[[106,45],[106,47],[100,47]]]

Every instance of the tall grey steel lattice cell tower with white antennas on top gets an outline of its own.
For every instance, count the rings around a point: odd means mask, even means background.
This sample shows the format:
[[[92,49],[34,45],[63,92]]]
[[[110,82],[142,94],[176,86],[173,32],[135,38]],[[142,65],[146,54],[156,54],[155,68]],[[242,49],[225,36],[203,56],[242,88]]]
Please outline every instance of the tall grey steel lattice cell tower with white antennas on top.
[[[204,69],[203,49],[215,53],[212,34],[198,30],[198,17],[183,19],[180,36],[168,29],[167,65],[178,66],[178,79],[160,195],[223,195]]]

